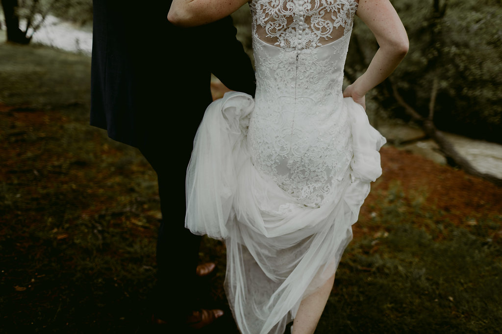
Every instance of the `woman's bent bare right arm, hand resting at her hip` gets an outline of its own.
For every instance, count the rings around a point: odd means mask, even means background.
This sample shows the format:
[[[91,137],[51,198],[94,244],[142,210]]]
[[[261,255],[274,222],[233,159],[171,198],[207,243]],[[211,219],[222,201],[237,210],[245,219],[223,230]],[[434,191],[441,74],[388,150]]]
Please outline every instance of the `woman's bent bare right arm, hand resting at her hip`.
[[[408,53],[408,36],[389,0],[359,0],[356,15],[371,30],[380,48],[366,72],[343,92],[365,107],[364,95],[383,82]]]

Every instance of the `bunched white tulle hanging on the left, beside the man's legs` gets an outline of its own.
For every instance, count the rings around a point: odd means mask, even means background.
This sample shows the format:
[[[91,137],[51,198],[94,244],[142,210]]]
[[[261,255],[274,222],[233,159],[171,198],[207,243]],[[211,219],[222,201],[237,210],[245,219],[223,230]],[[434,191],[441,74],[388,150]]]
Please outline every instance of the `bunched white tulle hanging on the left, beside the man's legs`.
[[[185,227],[194,234],[221,239],[237,186],[235,157],[242,156],[254,100],[244,93],[227,93],[206,110],[197,130],[186,175]]]

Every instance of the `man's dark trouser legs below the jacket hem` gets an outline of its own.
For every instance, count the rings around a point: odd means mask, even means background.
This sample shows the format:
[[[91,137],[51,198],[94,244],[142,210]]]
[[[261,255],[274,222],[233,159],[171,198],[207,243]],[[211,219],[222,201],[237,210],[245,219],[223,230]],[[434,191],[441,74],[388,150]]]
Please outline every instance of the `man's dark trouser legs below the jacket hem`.
[[[153,311],[164,320],[179,322],[196,309],[196,267],[201,236],[185,228],[185,175],[189,154],[168,159],[167,152],[142,149],[157,172],[162,221],[157,240],[157,283]],[[189,151],[190,152],[190,151]]]

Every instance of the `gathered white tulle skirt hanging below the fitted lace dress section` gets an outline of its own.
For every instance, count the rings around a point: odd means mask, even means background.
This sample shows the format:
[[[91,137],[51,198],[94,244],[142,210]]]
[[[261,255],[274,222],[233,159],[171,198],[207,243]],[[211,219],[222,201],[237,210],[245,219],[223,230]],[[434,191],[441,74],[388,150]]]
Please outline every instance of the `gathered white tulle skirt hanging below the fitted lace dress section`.
[[[242,333],[283,333],[301,300],[336,271],[351,225],[382,173],[385,138],[345,98],[354,157],[338,191],[320,207],[285,193],[252,164],[246,147],[253,99],[230,92],[204,115],[187,169],[185,225],[225,239],[225,288]]]

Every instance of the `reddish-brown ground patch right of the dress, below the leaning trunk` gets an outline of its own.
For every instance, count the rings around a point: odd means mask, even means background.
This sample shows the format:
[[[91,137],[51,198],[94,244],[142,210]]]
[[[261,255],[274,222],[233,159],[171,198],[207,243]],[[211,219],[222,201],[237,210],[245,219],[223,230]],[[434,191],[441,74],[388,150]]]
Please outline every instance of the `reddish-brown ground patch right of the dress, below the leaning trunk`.
[[[379,201],[395,188],[402,190],[403,200],[419,201],[421,207],[438,210],[442,220],[457,226],[477,224],[487,216],[500,217],[501,187],[390,145],[380,153],[383,174],[372,184],[361,208],[361,223],[353,226],[355,237],[367,232],[364,221],[379,213]]]

